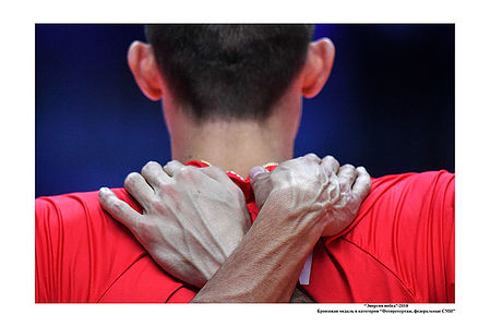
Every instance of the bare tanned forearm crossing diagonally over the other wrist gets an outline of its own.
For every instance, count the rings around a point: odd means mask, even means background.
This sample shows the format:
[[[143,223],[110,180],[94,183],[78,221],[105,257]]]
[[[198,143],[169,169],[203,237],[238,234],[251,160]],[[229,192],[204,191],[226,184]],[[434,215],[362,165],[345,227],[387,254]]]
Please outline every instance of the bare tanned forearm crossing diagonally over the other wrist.
[[[264,205],[240,245],[192,302],[289,302],[321,233],[308,226],[311,217],[290,215],[277,203]]]

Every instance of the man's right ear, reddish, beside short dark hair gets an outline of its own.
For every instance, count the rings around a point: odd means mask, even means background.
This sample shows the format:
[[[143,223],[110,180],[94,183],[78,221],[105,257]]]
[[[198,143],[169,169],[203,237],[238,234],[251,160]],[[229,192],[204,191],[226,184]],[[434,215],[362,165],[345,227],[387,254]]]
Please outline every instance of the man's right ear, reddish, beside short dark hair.
[[[323,88],[334,64],[335,47],[330,38],[311,43],[303,66],[302,95],[312,98]]]

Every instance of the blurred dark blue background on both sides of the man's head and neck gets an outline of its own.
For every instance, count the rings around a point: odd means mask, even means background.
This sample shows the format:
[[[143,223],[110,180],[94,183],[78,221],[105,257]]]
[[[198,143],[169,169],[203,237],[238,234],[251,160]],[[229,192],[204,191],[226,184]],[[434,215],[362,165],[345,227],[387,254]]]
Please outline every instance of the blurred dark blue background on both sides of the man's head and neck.
[[[336,46],[322,93],[304,100],[295,156],[334,155],[373,177],[454,172],[454,25],[318,25]],[[167,162],[159,102],[128,69],[142,25],[36,25],[36,197],[121,186]]]

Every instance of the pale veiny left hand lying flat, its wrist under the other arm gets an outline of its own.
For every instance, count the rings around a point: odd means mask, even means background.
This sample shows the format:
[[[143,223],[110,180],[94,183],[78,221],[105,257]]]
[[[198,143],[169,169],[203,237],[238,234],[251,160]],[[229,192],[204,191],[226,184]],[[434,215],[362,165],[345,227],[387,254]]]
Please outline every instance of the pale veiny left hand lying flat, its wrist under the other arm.
[[[148,162],[124,189],[142,206],[133,210],[106,187],[100,204],[122,222],[170,275],[203,287],[250,228],[241,190],[218,167]]]

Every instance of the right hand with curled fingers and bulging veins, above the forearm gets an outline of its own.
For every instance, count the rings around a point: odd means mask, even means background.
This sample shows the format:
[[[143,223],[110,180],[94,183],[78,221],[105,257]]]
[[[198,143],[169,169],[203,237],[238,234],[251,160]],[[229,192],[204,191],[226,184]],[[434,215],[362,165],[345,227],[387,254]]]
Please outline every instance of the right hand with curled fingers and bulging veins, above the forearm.
[[[289,210],[313,211],[313,218],[321,218],[322,237],[346,229],[371,190],[371,177],[363,167],[339,167],[332,156],[320,159],[309,154],[280,164],[273,172],[254,167],[250,174],[259,208],[280,192]]]

